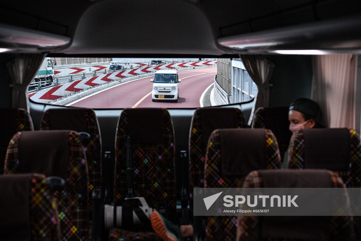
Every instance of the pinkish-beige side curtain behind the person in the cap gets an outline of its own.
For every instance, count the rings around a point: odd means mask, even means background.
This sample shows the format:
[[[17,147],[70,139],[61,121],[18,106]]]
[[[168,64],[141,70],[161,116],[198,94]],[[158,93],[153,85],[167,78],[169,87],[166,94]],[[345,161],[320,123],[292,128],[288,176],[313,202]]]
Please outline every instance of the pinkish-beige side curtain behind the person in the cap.
[[[356,64],[351,54],[313,58],[311,98],[321,106],[328,127],[355,128]]]

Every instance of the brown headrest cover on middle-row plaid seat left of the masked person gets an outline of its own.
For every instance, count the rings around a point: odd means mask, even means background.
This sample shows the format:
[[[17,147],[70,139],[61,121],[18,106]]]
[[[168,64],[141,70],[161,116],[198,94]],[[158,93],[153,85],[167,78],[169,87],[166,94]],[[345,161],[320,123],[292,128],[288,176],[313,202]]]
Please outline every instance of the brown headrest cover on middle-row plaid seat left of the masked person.
[[[223,176],[246,176],[266,169],[267,147],[264,129],[221,129],[219,134]]]

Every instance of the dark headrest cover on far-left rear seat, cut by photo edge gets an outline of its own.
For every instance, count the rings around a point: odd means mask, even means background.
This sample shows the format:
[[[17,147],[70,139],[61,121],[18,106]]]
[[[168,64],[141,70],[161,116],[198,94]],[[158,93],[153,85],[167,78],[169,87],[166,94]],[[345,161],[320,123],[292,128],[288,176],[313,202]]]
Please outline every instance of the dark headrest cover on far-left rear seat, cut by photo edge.
[[[17,109],[0,109],[0,145],[8,146],[10,139],[18,131]]]

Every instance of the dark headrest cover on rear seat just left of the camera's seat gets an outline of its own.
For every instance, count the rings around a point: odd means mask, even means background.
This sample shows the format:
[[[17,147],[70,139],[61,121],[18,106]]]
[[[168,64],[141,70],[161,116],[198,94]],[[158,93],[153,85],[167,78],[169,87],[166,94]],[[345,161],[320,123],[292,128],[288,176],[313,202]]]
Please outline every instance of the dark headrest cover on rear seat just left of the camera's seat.
[[[87,111],[85,108],[60,108],[49,109],[50,130],[73,130],[77,132],[88,132]],[[91,110],[93,111],[93,110]]]

